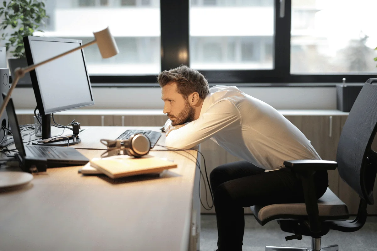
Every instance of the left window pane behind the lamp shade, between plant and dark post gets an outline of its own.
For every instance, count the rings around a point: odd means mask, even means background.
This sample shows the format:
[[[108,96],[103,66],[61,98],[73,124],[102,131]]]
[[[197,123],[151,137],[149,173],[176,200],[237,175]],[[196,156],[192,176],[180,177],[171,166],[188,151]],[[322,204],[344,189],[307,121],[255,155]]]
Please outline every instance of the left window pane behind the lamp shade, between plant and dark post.
[[[55,3],[51,3],[55,1]],[[159,0],[49,0],[54,22],[35,35],[93,40],[93,31],[109,26],[119,54],[102,59],[98,47],[84,49],[90,75],[152,75],[161,71]],[[120,4],[127,6],[114,8]],[[143,8],[134,8],[137,3]],[[131,5],[131,6],[130,6]],[[96,8],[81,8],[95,6]],[[72,29],[75,27],[75,29]]]

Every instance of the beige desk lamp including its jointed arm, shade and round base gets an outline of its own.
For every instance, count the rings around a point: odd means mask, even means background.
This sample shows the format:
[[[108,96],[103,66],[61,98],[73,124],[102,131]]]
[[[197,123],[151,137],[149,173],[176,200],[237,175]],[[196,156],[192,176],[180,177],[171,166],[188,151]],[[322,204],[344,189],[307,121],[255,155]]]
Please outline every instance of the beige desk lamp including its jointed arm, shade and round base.
[[[20,67],[16,68],[15,71],[14,71],[15,76],[14,76],[14,80],[12,82],[12,86],[9,89],[8,94],[6,95],[6,97],[3,101],[3,104],[1,106],[0,117],[4,113],[5,107],[9,102],[12,91],[16,87],[18,80],[20,78],[23,78],[25,76],[25,73],[28,73],[29,71],[34,70],[38,66],[46,64],[48,62],[51,62],[55,59],[58,59],[62,56],[65,56],[65,55],[72,53],[76,50],[83,49],[83,48],[90,46],[92,44],[95,44],[95,43],[97,43],[98,49],[100,49],[100,53],[101,53],[102,58],[110,58],[110,57],[115,56],[116,54],[119,53],[118,47],[116,46],[115,40],[110,33],[109,27],[107,27],[106,29],[101,30],[99,32],[93,32],[93,34],[94,34],[95,40],[93,40],[89,43],[83,44],[82,46],[79,46],[75,49],[61,53],[60,55],[54,56],[54,57],[47,59],[45,61],[42,61],[38,64],[29,65],[28,67],[25,67],[25,68],[20,68]],[[14,128],[12,128],[12,129],[14,129]],[[25,173],[25,172],[0,172],[0,191],[1,191],[1,189],[5,188],[5,187],[12,187],[12,186],[17,186],[17,185],[21,185],[21,184],[26,184],[29,181],[31,181],[32,179],[33,179],[33,176],[30,173]]]

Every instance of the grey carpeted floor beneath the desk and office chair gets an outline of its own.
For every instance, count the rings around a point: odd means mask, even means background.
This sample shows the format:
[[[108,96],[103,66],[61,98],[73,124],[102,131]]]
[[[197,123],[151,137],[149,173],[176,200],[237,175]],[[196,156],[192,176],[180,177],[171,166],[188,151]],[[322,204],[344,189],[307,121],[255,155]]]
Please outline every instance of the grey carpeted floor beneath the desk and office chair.
[[[265,246],[311,246],[311,238],[303,236],[302,240],[284,239],[291,235],[280,230],[276,221],[263,227],[253,215],[245,216],[244,251],[264,251]],[[217,228],[215,214],[201,215],[200,251],[213,251],[217,248]],[[377,216],[369,216],[362,229],[354,233],[342,233],[330,230],[322,239],[322,246],[337,244],[340,251],[377,251]]]

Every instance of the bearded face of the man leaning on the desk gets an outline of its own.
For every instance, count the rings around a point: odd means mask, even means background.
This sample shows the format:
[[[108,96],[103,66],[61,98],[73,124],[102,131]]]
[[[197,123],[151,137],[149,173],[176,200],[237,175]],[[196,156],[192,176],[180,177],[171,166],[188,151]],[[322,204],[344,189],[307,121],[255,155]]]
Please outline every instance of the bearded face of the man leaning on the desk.
[[[194,120],[195,111],[189,100],[178,93],[177,84],[167,84],[161,89],[161,99],[164,100],[164,113],[172,120],[172,125],[182,125]]]

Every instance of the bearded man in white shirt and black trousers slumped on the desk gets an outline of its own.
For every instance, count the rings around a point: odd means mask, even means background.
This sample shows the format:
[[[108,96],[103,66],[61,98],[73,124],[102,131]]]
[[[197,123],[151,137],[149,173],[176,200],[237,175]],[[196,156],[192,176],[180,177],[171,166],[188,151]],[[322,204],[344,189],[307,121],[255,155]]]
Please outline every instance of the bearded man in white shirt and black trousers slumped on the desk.
[[[304,202],[301,181],[285,160],[320,160],[308,139],[270,105],[237,87],[209,89],[204,76],[187,66],[158,75],[164,100],[166,145],[189,149],[211,138],[244,159],[210,174],[218,226],[218,249],[242,250],[244,208]],[[328,187],[327,171],[315,174],[316,195]]]

